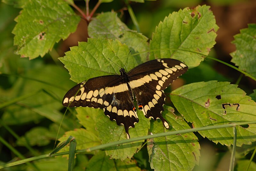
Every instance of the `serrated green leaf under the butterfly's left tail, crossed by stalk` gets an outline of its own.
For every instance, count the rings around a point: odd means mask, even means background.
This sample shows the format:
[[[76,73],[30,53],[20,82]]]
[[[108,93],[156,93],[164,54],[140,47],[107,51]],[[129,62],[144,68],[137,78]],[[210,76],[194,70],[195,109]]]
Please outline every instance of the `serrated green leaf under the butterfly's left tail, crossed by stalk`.
[[[135,124],[135,128],[129,129],[131,138],[148,135],[149,120],[138,109],[137,115],[139,123]],[[115,121],[110,121],[102,110],[97,115],[96,129],[99,132],[99,138],[102,139],[102,144],[126,139],[124,126],[118,126]],[[140,148],[141,142],[108,147],[105,149],[105,152],[113,159],[124,160],[127,157],[132,158],[137,149]]]

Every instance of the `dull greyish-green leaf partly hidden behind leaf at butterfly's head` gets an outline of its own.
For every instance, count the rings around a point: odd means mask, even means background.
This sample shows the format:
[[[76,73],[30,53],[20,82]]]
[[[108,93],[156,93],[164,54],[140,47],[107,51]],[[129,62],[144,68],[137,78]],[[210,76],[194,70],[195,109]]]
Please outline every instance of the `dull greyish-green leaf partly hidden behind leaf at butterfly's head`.
[[[92,38],[119,40],[132,51],[131,54],[149,50],[148,38],[141,33],[129,29],[114,12],[105,12],[94,18],[88,26],[88,34]],[[128,57],[127,53],[126,58]],[[136,56],[138,63],[146,62],[148,53]],[[141,62],[142,61],[142,62]]]

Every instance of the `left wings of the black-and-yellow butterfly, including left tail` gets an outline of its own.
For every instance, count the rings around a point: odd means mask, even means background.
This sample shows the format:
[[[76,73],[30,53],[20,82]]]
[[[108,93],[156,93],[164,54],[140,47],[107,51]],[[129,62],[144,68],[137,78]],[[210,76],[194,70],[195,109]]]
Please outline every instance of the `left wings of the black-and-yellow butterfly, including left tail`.
[[[64,96],[62,104],[102,108],[111,121],[124,125],[127,138],[130,138],[128,129],[139,122],[132,98],[124,79],[119,75],[109,75],[91,78],[74,86]]]

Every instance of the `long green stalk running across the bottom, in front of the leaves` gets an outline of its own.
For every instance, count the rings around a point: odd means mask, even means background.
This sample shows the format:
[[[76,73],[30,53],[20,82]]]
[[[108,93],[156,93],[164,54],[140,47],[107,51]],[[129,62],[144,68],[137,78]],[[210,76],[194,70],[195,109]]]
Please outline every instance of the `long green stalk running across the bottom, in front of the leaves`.
[[[256,121],[241,122],[241,123],[230,123],[230,124],[217,125],[217,126],[206,126],[206,127],[201,127],[201,128],[192,128],[192,129],[187,129],[187,130],[179,130],[179,131],[164,132],[164,133],[154,134],[154,135],[147,135],[147,136],[143,136],[143,137],[125,139],[125,140],[115,141],[115,142],[111,142],[111,143],[107,143],[107,144],[102,144],[102,145],[98,145],[98,146],[83,149],[83,150],[76,150],[76,153],[92,152],[92,151],[95,151],[95,150],[105,149],[105,148],[115,146],[115,145],[121,145],[121,144],[125,144],[125,143],[141,141],[141,140],[149,139],[149,138],[164,137],[164,136],[184,134],[184,133],[197,132],[197,131],[203,131],[203,130],[230,128],[230,127],[235,127],[235,126],[238,126],[238,125],[246,125],[246,124],[256,124]],[[0,165],[0,169],[5,168],[5,167],[19,165],[19,164],[22,164],[22,163],[26,163],[26,162],[34,161],[34,160],[38,160],[38,159],[44,159],[44,158],[48,158],[48,157],[66,155],[68,153],[69,152],[60,152],[60,153],[51,154],[51,156],[50,156],[50,154],[45,154],[45,155],[41,155],[41,156],[31,157],[31,158],[28,158],[28,159],[24,159],[24,160],[15,161],[15,162],[12,162],[12,163],[7,163],[7,164],[4,164],[4,165]]]

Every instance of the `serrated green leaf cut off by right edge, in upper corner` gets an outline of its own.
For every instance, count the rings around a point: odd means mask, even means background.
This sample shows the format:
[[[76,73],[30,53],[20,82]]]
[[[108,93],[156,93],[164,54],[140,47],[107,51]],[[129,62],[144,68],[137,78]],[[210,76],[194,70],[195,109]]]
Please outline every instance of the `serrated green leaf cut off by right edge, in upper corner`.
[[[249,24],[248,28],[240,30],[234,38],[232,43],[236,45],[236,51],[230,53],[231,62],[239,66],[239,69],[256,77],[256,24]]]

